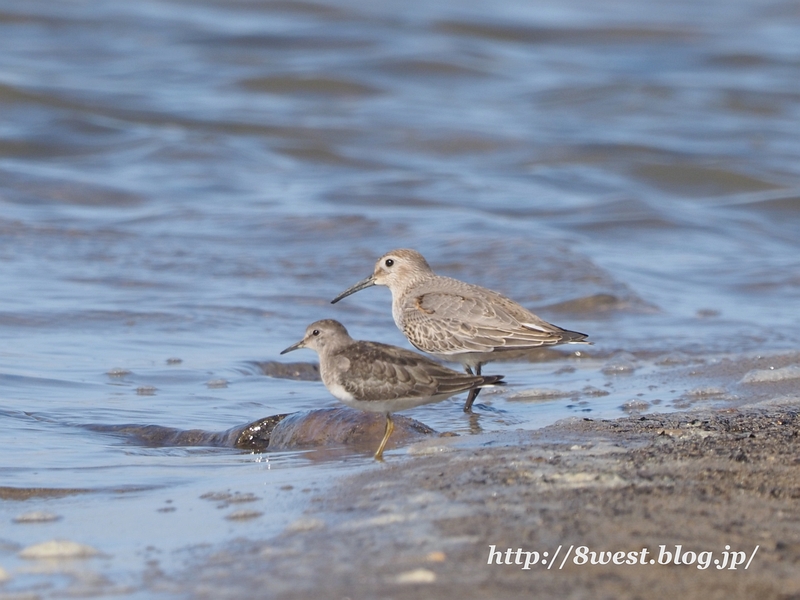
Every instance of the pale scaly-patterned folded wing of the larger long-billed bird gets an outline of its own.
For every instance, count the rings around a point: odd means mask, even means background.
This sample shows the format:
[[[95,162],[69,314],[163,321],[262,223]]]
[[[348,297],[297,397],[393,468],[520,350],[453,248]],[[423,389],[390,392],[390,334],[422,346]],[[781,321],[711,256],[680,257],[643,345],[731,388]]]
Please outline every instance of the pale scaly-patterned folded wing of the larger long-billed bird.
[[[586,337],[551,325],[496,292],[448,277],[414,288],[404,298],[402,316],[412,344],[441,354],[525,350]]]

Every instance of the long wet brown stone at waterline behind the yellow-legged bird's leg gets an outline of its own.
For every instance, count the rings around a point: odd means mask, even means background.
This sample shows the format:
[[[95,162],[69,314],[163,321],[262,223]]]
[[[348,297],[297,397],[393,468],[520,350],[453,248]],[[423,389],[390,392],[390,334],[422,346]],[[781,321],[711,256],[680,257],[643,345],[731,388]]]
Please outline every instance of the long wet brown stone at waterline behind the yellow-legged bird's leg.
[[[417,437],[436,433],[401,415],[394,415],[395,430],[389,446],[396,447]],[[272,415],[226,431],[181,430],[160,425],[85,425],[100,433],[120,435],[148,448],[210,446],[255,452],[293,450],[324,446],[377,448],[383,437],[385,417],[346,407]]]

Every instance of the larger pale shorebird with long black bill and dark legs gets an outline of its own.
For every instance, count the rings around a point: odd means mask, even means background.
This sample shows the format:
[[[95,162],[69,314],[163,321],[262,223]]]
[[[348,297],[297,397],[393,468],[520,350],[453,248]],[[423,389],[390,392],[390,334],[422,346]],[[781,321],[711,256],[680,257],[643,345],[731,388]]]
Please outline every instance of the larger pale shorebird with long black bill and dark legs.
[[[556,344],[590,344],[586,334],[568,331],[490,289],[436,275],[416,250],[381,256],[372,275],[331,303],[373,285],[392,292],[392,316],[415,348],[447,362],[461,363],[470,375],[496,360],[513,360],[530,350]],[[464,412],[480,388],[470,391]]]

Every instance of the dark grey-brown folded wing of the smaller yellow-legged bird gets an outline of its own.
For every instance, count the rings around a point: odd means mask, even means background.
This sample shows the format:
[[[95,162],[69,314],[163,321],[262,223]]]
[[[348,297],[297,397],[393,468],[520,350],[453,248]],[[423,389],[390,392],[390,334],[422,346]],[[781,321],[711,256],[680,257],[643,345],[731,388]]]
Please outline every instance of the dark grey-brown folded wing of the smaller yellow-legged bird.
[[[349,368],[339,374],[339,383],[362,401],[397,398],[450,396],[489,378],[464,375],[410,350],[356,342],[347,347]]]

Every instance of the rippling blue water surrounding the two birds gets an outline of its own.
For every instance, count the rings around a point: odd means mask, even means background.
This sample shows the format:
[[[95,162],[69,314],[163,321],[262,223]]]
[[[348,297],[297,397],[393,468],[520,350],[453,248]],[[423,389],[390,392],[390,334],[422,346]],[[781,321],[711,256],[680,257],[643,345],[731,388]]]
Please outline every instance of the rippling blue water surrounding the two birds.
[[[487,367],[477,423],[407,413],[437,430],[736,401],[740,373],[685,371],[797,348],[798,123],[790,2],[7,0],[0,487],[82,493],[0,500],[0,590],[180,593],[155,571],[372,468],[84,426],[335,406],[256,363],[319,318],[407,346],[386,289],[329,304],[392,248],[595,343]],[[262,514],[226,519],[234,492]],[[52,538],[103,577],[18,557]]]

